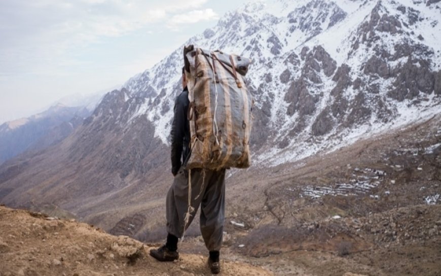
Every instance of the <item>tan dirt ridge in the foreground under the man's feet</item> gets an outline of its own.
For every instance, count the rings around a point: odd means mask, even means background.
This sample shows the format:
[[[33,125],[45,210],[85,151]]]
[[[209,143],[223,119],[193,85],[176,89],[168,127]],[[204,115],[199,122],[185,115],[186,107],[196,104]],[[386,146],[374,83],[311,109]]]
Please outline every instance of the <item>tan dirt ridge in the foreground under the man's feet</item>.
[[[150,249],[89,224],[0,206],[0,276],[210,274],[201,255],[181,253],[176,262],[160,263]],[[236,261],[222,261],[222,269],[222,275],[272,275]]]

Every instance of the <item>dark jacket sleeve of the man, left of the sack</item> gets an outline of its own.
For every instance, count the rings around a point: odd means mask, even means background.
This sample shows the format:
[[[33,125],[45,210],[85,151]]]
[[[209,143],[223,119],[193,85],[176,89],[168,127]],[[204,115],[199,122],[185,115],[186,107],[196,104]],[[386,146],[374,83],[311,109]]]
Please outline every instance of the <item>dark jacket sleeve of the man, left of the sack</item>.
[[[174,102],[173,124],[170,133],[171,172],[173,175],[177,174],[180,166],[186,161],[190,153],[190,125],[187,117],[189,104],[189,91],[186,87]]]

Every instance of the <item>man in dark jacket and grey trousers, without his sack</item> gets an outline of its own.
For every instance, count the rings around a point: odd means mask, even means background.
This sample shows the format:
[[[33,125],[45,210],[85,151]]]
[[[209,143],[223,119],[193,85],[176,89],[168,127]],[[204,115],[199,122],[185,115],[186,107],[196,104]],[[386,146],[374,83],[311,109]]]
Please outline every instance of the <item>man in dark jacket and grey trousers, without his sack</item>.
[[[191,170],[191,206],[194,211],[191,212],[191,217],[186,223],[189,171],[184,170],[181,165],[190,154],[190,126],[187,117],[190,102],[184,67],[182,67],[182,89],[175,101],[171,127],[171,172],[174,180],[166,199],[167,242],[160,248],[151,250],[150,255],[159,261],[178,259],[178,238],[182,237],[184,227],[190,226],[201,205],[200,226],[205,246],[209,251],[208,266],[212,273],[217,274],[220,272],[219,250],[222,246],[225,219],[225,169]]]

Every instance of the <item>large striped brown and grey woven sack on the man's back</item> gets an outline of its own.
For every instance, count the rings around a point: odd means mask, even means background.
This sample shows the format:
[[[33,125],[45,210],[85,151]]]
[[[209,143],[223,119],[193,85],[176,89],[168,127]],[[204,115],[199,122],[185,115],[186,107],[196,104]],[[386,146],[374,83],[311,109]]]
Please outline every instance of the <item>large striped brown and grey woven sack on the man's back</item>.
[[[248,168],[253,98],[244,75],[251,61],[193,46],[184,59],[192,137],[185,168]]]

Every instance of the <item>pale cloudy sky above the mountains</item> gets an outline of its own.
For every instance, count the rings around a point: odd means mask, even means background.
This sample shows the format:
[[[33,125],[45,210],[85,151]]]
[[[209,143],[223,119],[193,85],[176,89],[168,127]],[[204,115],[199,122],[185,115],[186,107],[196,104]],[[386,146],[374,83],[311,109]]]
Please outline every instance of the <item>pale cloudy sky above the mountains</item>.
[[[0,124],[110,91],[249,0],[0,0]]]

